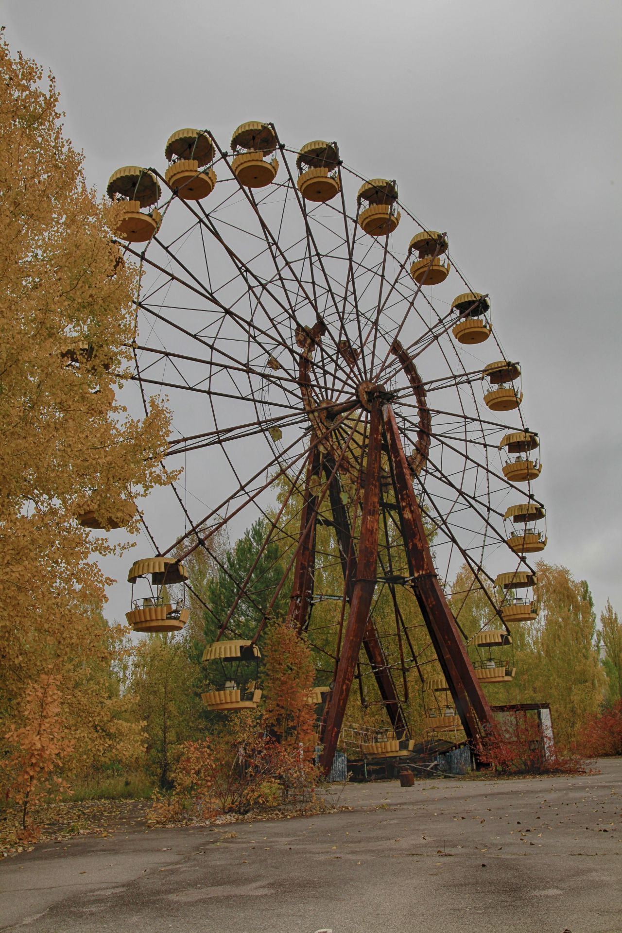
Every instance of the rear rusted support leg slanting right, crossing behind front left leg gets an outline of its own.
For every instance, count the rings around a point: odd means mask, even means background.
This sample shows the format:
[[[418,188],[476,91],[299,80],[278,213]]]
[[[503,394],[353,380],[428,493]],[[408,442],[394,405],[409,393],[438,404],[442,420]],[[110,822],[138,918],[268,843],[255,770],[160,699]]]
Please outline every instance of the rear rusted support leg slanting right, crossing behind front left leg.
[[[350,526],[348,509],[341,502],[338,474],[335,474],[331,480],[330,486],[328,487],[328,496],[339,546],[339,559],[343,571],[346,597],[348,602],[352,603],[354,580],[357,577],[357,562],[352,543],[352,528]],[[408,734],[408,727],[402,714],[393,675],[389,668],[389,662],[376,632],[376,627],[371,619],[367,622],[363,638],[363,648],[365,648],[367,661],[369,661],[371,665],[371,671],[376,679],[380,697],[387,710],[387,715],[399,738],[403,738]]]

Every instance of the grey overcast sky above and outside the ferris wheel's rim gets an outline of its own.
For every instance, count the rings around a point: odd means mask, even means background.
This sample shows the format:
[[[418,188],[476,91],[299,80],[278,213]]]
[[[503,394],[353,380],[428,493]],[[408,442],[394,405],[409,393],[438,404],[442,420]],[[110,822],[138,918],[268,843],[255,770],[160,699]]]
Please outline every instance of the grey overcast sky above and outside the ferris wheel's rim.
[[[339,141],[396,178],[523,369],[546,560],[622,610],[619,2],[13,0],[7,40],[55,74],[104,191],[170,132]],[[120,584],[125,591],[125,584]],[[120,596],[120,594],[119,594]],[[127,594],[123,600],[127,599]],[[121,603],[113,599],[115,614]]]

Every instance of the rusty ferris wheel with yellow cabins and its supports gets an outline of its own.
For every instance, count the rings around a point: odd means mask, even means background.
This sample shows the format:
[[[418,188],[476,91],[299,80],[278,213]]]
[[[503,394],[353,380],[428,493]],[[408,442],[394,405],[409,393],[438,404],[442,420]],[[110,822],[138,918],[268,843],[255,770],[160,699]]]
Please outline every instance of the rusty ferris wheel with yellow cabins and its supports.
[[[489,295],[466,281],[447,232],[410,213],[394,179],[358,174],[336,142],[291,148],[251,121],[227,148],[208,130],[173,132],[164,156],[161,173],[126,166],[108,183],[123,205],[118,242],[142,272],[132,383],[145,405],[168,395],[169,457],[184,465],[164,540],[146,501],[155,553],[131,567],[144,589],[130,624],[181,628],[184,562],[262,515],[255,564],[214,620],[205,660],[221,681],[208,706],[260,703],[259,675],[239,672],[286,593],[316,659],[326,770],[356,685],[362,697],[371,685],[390,724],[372,756],[412,747],[413,677],[429,732],[476,739],[492,723],[483,688],[513,676],[510,626],[535,618],[528,561],[546,546],[539,438]],[[376,171],[385,159],[366,152]],[[240,631],[236,607],[253,602],[276,538],[283,573],[254,631]],[[488,606],[468,637],[448,599],[461,564]]]

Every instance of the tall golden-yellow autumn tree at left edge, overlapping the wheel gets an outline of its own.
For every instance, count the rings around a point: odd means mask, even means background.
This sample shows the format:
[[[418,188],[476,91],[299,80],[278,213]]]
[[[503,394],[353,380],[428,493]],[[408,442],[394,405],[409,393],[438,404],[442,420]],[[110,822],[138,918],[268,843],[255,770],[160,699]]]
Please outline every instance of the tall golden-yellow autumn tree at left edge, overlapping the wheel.
[[[127,523],[131,499],[168,481],[169,415],[155,399],[139,418],[117,402],[137,271],[63,134],[53,77],[4,39],[0,140],[0,745],[28,728],[24,698],[48,678],[44,703],[53,693],[87,755],[96,731],[81,724],[102,711],[80,688],[114,655],[93,557],[112,548],[76,518],[88,507]]]

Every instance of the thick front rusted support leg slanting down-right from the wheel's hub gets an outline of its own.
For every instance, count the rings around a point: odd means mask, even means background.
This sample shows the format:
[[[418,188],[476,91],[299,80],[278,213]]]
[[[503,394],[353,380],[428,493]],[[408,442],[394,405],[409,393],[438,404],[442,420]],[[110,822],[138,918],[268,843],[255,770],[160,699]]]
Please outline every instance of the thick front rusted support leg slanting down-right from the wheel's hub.
[[[392,407],[384,406],[382,415],[404,545],[413,577],[412,588],[463,729],[469,739],[477,740],[494,730],[491,706],[477,680],[456,620],[436,575],[423,527],[422,513],[412,487],[408,462]]]

